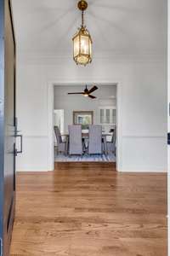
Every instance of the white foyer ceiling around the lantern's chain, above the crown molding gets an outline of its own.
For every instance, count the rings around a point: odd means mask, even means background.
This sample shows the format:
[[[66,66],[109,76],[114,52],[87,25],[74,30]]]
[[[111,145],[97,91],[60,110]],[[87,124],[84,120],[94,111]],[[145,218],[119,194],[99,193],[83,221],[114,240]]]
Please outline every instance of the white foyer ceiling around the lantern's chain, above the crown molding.
[[[12,0],[20,52],[72,54],[81,23],[77,0]],[[88,0],[85,23],[94,53],[163,54],[167,48],[167,0]]]

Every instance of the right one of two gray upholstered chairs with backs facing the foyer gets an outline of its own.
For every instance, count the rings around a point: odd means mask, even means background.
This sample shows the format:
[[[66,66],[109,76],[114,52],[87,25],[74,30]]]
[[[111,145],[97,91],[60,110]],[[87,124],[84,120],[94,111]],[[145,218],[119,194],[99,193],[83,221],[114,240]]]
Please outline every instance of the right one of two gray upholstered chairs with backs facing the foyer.
[[[102,153],[102,126],[89,125],[88,154]]]

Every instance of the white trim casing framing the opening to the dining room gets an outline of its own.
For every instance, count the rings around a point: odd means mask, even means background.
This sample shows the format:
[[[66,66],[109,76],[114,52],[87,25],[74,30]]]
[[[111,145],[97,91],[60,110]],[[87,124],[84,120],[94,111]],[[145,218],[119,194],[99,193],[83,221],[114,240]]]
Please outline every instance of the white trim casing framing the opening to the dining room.
[[[116,171],[122,172],[122,80],[51,80],[48,82],[48,171],[54,171],[54,86],[55,85],[80,85],[80,84],[100,84],[116,85]]]

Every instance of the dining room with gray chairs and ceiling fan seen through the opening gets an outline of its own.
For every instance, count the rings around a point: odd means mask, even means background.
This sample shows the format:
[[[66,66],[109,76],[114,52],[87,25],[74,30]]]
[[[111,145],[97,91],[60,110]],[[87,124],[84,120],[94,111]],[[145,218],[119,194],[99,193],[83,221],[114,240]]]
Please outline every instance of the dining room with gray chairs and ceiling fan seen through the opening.
[[[116,84],[54,85],[54,161],[116,163]]]

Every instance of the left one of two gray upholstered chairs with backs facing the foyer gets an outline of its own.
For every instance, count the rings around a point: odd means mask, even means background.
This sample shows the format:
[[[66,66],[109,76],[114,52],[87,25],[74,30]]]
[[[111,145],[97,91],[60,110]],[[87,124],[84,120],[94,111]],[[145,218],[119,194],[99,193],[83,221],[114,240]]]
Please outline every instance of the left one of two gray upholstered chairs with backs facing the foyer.
[[[69,154],[82,154],[82,125],[69,125]]]

